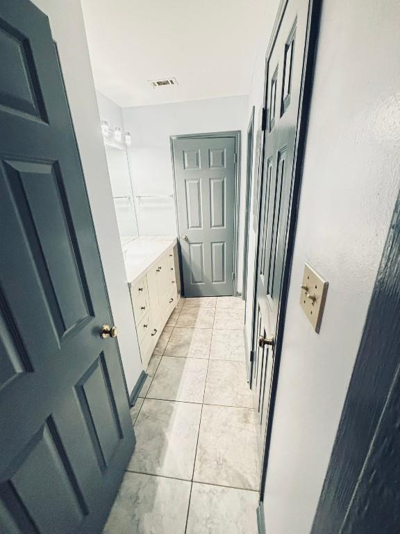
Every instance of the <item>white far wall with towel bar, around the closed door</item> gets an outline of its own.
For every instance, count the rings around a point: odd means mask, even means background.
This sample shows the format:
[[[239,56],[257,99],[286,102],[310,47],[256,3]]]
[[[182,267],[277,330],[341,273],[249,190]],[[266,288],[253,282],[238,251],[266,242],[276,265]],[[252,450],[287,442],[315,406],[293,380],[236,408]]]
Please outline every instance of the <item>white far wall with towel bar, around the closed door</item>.
[[[184,133],[241,130],[247,114],[247,97],[227,97],[178,104],[123,108],[124,127],[132,133],[129,149],[136,195],[172,195],[169,137]],[[247,127],[246,127],[247,129]],[[245,148],[245,131],[242,146]],[[242,162],[243,163],[243,162]],[[242,165],[242,182],[245,181]],[[243,207],[244,208],[244,207]],[[243,221],[241,221],[243,226]],[[139,234],[176,235],[174,200],[138,203]],[[242,239],[241,235],[241,239]],[[239,250],[243,250],[240,241]],[[240,255],[242,262],[242,255]],[[239,266],[240,273],[242,264]],[[241,277],[239,277],[241,283]],[[241,291],[241,287],[238,287]]]

